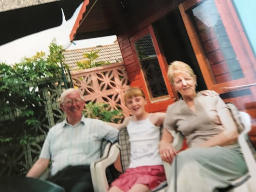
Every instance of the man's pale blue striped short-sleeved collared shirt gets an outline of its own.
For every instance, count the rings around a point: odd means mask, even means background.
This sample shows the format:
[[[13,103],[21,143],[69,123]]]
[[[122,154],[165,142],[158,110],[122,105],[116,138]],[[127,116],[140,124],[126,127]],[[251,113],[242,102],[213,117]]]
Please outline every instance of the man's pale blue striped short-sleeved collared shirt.
[[[90,165],[100,158],[102,139],[114,142],[118,132],[97,119],[82,117],[74,126],[64,120],[49,130],[40,158],[52,161],[51,175],[69,165]]]

